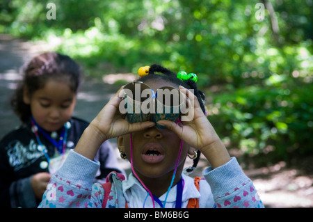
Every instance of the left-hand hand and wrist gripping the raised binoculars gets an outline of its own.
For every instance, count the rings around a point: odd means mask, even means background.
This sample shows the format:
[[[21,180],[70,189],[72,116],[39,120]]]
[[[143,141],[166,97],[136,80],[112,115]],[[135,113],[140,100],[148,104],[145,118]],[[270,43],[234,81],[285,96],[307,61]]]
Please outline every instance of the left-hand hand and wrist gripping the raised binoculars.
[[[90,122],[75,148],[83,156],[94,159],[100,145],[109,138],[115,138],[131,132],[153,127],[154,122],[129,123],[119,111],[122,102],[122,88],[104,106],[102,111]]]

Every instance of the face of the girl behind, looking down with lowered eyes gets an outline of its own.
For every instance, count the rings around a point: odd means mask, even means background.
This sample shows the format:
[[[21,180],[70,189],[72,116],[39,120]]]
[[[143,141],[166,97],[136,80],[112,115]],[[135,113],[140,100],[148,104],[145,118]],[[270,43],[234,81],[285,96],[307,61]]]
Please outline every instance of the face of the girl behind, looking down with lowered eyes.
[[[70,119],[76,104],[76,93],[66,81],[48,79],[45,87],[31,95],[24,89],[24,102],[31,106],[35,121],[43,129],[54,132]]]

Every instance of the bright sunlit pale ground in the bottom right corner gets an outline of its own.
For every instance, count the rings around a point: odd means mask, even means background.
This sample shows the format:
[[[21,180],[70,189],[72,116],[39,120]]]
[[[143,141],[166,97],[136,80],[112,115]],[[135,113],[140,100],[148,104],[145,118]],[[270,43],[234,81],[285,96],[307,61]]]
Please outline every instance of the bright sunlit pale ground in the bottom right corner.
[[[281,161],[246,171],[267,207],[313,207],[313,158],[301,161],[305,168]]]

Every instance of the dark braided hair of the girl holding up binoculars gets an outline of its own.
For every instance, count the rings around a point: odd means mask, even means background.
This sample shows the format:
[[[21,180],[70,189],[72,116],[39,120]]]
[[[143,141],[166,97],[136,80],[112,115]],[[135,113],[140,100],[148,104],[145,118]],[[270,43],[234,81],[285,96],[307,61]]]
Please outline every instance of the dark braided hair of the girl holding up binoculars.
[[[156,72],[162,73],[163,75],[156,74]],[[204,107],[205,95],[204,93],[202,93],[201,90],[198,89],[195,81],[191,79],[182,81],[181,79],[177,78],[177,74],[157,64],[150,65],[149,74],[138,79],[138,81],[143,81],[143,82],[149,81],[149,80],[170,81],[173,84],[177,84],[177,86],[184,86],[187,89],[193,89],[195,96],[198,98],[200,107],[203,113],[205,113],[205,107]],[[186,170],[187,172],[193,171],[194,168],[198,165],[201,152],[198,150],[197,154],[198,154],[197,158],[193,160],[193,166],[191,168],[188,168]]]

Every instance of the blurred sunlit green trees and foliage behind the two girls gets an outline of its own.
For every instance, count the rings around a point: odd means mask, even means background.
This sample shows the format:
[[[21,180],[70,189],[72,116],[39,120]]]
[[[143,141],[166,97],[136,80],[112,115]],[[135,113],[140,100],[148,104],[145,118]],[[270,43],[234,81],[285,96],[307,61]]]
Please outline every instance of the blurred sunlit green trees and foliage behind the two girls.
[[[312,11],[313,0],[3,0],[0,32],[45,40],[91,77],[152,63],[195,72],[227,147],[266,163],[313,154]]]

